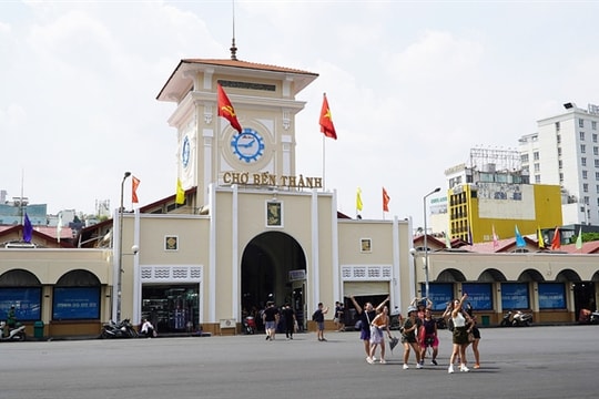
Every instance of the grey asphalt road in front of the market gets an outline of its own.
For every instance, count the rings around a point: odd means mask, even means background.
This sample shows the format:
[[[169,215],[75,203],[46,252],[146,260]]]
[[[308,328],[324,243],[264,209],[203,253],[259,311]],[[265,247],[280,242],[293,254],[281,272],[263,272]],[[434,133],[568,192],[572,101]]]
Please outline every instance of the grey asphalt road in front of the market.
[[[394,331],[396,332],[396,331]],[[1,399],[598,398],[599,326],[485,328],[481,368],[368,365],[357,332],[0,342]],[[471,361],[471,351],[468,351]]]

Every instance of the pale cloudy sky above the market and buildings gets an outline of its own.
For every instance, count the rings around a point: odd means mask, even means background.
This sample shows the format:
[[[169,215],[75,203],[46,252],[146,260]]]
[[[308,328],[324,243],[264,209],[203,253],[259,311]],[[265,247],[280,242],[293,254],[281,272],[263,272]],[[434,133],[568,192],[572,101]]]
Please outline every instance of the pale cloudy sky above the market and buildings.
[[[0,0],[0,190],[94,214],[131,171],[125,208],[173,195],[175,104],[156,95],[181,59],[230,58],[233,9],[240,60],[319,75],[297,95],[296,172],[349,216],[361,187],[363,218],[422,226],[470,149],[517,150],[564,103],[599,103],[595,1]]]

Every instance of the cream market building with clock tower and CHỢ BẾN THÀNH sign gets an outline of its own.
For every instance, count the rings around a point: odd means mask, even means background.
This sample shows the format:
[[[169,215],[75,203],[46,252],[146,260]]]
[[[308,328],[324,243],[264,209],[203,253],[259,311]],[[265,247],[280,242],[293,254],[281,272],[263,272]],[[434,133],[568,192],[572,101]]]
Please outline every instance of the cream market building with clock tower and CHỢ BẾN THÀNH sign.
[[[183,201],[173,195],[115,209],[111,221],[82,231],[78,248],[48,241],[0,248],[0,318],[16,304],[29,332],[41,320],[44,336],[93,335],[110,319],[144,317],[159,332],[235,334],[267,300],[292,304],[309,328],[321,301],[345,300],[352,310],[349,296],[362,303],[388,296],[392,313],[405,311],[426,283],[436,309],[471,293],[488,324],[508,305],[532,310],[537,320],[573,321],[575,283],[592,286],[585,300],[596,299],[597,254],[445,254],[433,252],[438,243],[430,237],[425,264],[409,218],[338,213],[335,190],[295,167],[298,95],[316,78],[234,53],[181,60],[158,100],[174,104],[169,123]],[[241,132],[219,116],[219,84]]]

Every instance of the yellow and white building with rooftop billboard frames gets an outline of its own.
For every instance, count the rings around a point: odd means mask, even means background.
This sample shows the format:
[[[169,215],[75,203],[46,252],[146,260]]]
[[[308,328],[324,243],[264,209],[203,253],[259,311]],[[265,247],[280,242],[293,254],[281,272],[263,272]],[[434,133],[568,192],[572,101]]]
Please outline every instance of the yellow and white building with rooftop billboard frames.
[[[450,238],[483,243],[561,225],[559,185],[530,184],[516,150],[471,149],[445,171]]]

